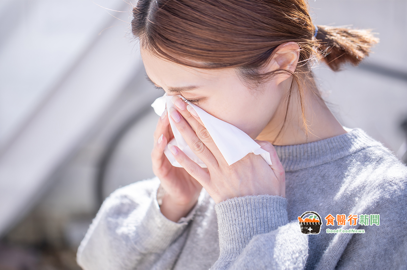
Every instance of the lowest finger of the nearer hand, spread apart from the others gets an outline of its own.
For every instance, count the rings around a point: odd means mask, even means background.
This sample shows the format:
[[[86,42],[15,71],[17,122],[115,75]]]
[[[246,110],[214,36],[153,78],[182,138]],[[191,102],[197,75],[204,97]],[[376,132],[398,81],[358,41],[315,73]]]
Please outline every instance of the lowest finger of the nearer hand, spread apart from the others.
[[[192,176],[195,178],[204,189],[208,190],[210,184],[210,176],[208,172],[204,170],[197,163],[192,161],[181,149],[172,144],[168,144],[168,149],[173,154],[175,160]]]

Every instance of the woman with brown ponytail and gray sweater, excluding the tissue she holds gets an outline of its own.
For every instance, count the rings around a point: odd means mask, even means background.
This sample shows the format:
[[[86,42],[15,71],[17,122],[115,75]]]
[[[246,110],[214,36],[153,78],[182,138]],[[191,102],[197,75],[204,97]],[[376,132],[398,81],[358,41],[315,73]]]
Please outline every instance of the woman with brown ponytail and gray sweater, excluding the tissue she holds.
[[[177,109],[158,120],[156,177],[105,200],[78,250],[83,269],[405,269],[407,169],[339,124],[311,72],[319,58],[334,71],[358,64],[376,38],[315,28],[303,0],[140,0],[133,16],[147,75]],[[273,164],[249,153],[228,166],[188,103]],[[182,168],[169,163],[169,117],[207,168],[171,145]]]

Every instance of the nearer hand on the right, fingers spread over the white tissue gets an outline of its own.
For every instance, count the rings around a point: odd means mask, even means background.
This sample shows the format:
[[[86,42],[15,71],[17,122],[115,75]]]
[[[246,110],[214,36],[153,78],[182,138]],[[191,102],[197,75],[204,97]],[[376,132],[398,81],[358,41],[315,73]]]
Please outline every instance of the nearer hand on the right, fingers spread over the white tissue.
[[[192,161],[177,146],[169,148],[178,163],[198,180],[216,203],[245,195],[267,194],[285,197],[285,171],[270,142],[256,141],[270,153],[273,165],[268,165],[260,155],[249,153],[229,166],[193,107],[188,105],[187,108],[187,104],[177,96],[173,97],[173,103],[177,109],[171,108],[170,114],[177,129],[208,170]]]

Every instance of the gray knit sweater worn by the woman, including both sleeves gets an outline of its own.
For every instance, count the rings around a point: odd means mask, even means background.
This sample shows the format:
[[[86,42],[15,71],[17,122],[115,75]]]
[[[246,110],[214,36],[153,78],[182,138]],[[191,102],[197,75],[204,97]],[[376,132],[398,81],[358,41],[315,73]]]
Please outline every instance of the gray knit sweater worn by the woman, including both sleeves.
[[[142,180],[104,201],[78,264],[84,270],[407,269],[407,167],[393,152],[358,128],[275,148],[286,198],[251,195],[215,204],[202,189],[190,213],[173,222],[158,206],[160,180]],[[301,233],[298,216],[306,211],[321,216],[319,234]],[[334,225],[327,225],[329,214]],[[345,225],[337,215],[346,216]],[[357,216],[356,225],[349,216]]]

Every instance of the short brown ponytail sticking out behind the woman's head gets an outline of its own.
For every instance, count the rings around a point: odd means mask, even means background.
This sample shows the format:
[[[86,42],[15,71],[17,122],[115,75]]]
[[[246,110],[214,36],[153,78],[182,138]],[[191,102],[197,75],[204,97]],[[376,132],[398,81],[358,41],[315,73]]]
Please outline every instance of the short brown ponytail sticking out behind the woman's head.
[[[344,27],[318,25],[317,48],[324,62],[333,71],[340,70],[342,64],[349,62],[357,66],[369,56],[372,45],[379,42],[371,30],[356,30]]]

